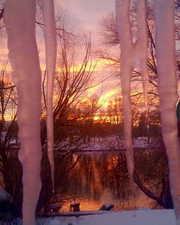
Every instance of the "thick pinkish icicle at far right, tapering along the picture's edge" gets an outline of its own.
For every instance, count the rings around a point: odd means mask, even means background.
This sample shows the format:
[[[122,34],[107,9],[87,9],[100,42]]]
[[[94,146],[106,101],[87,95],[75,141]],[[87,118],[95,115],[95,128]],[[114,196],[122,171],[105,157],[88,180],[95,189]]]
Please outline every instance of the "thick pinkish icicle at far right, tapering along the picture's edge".
[[[162,134],[168,155],[176,224],[180,225],[180,149],[176,119],[174,0],[155,1],[155,25]]]

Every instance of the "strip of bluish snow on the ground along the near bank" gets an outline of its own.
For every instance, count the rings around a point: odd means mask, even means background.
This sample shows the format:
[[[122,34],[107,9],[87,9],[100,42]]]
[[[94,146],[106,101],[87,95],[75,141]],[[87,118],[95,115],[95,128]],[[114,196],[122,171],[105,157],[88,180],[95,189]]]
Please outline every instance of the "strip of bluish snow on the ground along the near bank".
[[[175,225],[174,210],[139,209],[80,217],[40,219],[38,225]]]

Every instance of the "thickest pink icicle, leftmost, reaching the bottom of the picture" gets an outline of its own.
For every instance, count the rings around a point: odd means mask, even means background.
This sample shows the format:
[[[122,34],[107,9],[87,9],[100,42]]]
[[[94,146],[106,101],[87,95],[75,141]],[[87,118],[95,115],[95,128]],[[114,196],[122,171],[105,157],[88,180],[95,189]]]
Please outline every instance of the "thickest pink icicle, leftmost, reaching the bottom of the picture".
[[[41,188],[41,71],[35,40],[35,9],[35,0],[7,0],[5,5],[9,57],[18,91],[23,225],[35,225],[35,210]]]

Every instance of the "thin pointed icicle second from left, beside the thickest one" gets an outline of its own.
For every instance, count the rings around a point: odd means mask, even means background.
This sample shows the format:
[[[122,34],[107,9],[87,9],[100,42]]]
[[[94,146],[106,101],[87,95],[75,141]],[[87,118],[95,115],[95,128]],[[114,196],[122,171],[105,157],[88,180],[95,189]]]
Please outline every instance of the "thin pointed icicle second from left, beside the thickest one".
[[[46,72],[47,72],[47,143],[48,158],[51,167],[51,179],[54,192],[54,125],[53,125],[53,87],[56,69],[56,24],[54,16],[54,1],[41,0],[44,19],[44,36],[46,49]]]

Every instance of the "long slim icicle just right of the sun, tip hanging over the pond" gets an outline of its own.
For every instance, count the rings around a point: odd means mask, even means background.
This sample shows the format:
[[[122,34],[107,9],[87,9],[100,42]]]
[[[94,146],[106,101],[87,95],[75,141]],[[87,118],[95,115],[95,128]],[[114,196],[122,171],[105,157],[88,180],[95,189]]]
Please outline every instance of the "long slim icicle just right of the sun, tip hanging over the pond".
[[[123,96],[124,138],[127,166],[130,178],[133,177],[134,156],[132,146],[132,112],[131,112],[131,74],[132,74],[132,41],[129,22],[130,0],[116,0],[117,30],[121,46],[120,78]]]

